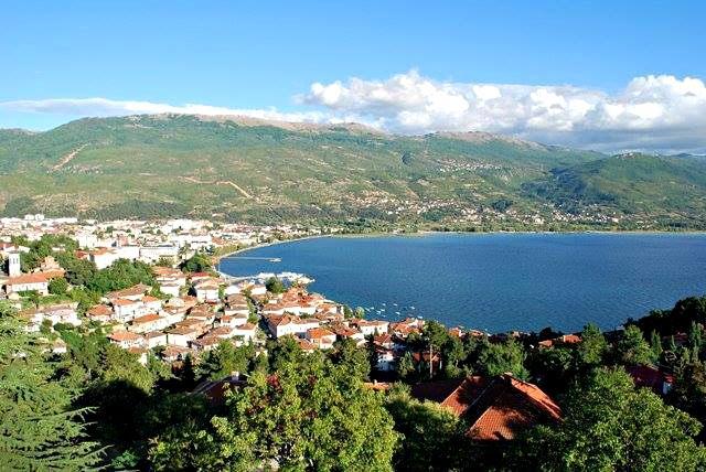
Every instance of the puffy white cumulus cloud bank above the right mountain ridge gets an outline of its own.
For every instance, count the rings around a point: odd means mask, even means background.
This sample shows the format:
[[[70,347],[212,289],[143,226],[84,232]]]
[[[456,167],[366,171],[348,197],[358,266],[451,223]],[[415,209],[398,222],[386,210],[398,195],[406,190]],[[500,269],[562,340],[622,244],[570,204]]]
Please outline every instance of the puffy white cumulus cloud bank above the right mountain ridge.
[[[480,130],[603,150],[706,149],[706,86],[692,77],[637,77],[608,94],[439,82],[410,71],[385,81],[314,83],[298,100],[399,133]]]

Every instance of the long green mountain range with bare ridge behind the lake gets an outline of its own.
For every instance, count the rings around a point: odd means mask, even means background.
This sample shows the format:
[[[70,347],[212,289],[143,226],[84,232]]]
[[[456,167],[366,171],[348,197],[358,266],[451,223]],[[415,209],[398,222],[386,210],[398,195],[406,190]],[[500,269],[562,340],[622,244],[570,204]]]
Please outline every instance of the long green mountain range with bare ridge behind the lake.
[[[150,115],[0,130],[0,208],[418,227],[694,227],[706,162],[502,136]],[[643,223],[638,223],[643,222]]]

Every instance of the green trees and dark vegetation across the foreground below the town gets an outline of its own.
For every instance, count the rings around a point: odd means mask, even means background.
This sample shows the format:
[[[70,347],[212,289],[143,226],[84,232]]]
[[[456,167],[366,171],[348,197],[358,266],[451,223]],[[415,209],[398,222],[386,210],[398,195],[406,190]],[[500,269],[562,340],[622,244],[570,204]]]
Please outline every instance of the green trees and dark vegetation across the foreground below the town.
[[[154,356],[140,364],[97,326],[58,326],[67,353],[53,355],[2,304],[0,468],[702,470],[705,321],[706,298],[691,298],[624,332],[588,325],[580,343],[544,348],[538,342],[557,333],[460,340],[427,323],[409,342],[441,354],[435,379],[511,372],[561,406],[559,423],[489,446],[469,438],[463,418],[410,397],[408,385],[430,378],[424,362],[403,360],[384,393],[365,384],[378,375],[370,351],[350,342],[304,354],[285,339],[269,342],[268,355],[224,342],[172,371]],[[634,386],[625,369],[644,364],[673,374],[666,396]],[[234,372],[245,380],[223,401],[189,394]]]

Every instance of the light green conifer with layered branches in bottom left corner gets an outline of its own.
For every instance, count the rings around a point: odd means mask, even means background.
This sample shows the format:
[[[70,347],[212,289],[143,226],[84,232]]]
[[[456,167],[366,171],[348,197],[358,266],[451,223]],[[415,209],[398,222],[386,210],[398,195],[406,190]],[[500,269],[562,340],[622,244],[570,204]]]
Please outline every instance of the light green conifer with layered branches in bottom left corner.
[[[87,441],[87,409],[54,377],[13,310],[0,305],[0,469],[84,470],[99,464],[103,450]]]

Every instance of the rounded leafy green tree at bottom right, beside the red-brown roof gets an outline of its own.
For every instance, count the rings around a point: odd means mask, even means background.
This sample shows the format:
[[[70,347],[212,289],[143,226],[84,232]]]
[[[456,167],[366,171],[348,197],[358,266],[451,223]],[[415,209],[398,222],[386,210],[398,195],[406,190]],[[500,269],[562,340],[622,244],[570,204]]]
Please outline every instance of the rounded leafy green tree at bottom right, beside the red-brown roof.
[[[694,471],[705,465],[698,421],[635,389],[622,369],[598,368],[574,387],[564,421],[520,440],[518,464],[553,471]]]

